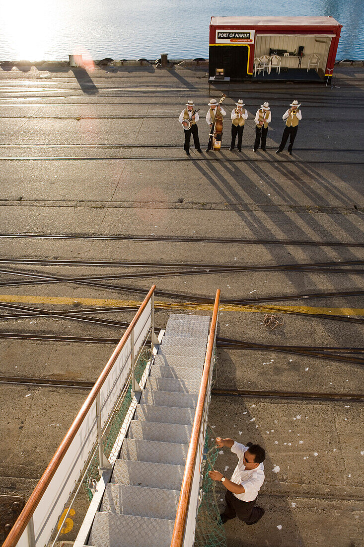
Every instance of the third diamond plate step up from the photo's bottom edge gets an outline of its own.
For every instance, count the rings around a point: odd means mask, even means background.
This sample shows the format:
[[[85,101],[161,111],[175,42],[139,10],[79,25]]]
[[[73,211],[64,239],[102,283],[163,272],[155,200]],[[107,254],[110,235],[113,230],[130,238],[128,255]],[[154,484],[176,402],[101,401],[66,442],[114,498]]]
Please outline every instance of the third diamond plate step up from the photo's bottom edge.
[[[184,465],[117,459],[111,482],[149,488],[181,490],[184,471]]]

